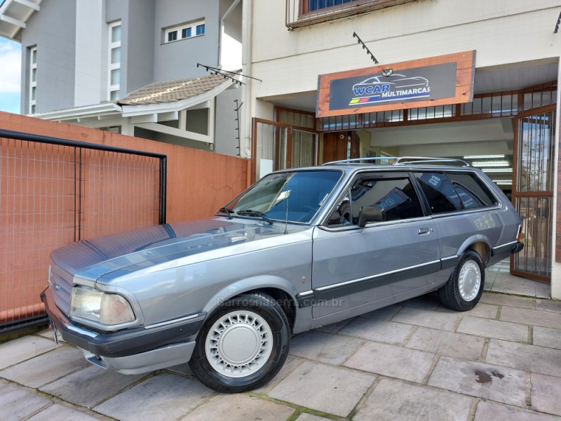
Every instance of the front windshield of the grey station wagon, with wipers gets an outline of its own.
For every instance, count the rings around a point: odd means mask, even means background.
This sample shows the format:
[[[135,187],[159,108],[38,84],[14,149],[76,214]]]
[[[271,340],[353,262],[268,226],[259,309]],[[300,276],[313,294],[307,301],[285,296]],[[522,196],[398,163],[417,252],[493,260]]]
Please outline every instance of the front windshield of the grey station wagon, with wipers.
[[[231,215],[309,223],[341,175],[330,170],[269,174],[221,210]]]

